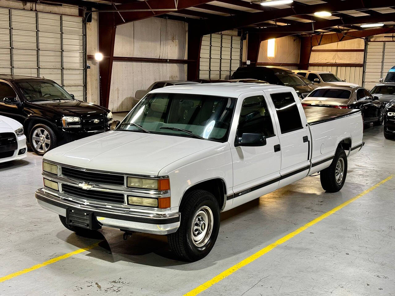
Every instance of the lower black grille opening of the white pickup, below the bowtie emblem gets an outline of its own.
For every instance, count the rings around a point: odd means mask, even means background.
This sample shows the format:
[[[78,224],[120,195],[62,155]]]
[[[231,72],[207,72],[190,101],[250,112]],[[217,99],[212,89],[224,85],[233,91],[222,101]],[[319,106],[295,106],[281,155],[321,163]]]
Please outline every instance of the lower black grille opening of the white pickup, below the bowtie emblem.
[[[71,186],[68,184],[62,184],[62,191],[68,195],[90,199],[90,200],[102,200],[106,202],[114,202],[118,204],[124,203],[124,195],[122,193],[114,193],[108,191],[99,190],[85,190],[80,187]]]

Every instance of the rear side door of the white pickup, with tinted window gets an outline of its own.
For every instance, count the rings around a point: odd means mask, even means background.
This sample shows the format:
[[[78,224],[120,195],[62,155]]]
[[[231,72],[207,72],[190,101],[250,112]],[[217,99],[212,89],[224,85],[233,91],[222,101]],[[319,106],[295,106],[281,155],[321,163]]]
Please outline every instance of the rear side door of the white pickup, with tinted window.
[[[303,107],[292,92],[267,94],[271,97],[281,147],[281,180],[283,187],[307,176],[310,152],[310,131]],[[301,116],[301,114],[303,116]]]

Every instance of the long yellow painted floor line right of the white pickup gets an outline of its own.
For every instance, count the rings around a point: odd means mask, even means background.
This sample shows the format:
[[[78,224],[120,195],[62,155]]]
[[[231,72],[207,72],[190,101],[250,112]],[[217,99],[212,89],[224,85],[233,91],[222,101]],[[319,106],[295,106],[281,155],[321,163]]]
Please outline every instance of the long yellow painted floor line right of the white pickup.
[[[239,270],[243,266],[246,266],[247,264],[250,264],[252,261],[260,258],[263,255],[265,255],[266,253],[268,253],[269,251],[273,250],[278,245],[281,245],[281,244],[285,243],[286,241],[288,241],[291,238],[293,238],[295,235],[297,235],[297,234],[301,233],[302,231],[308,229],[310,226],[318,223],[322,219],[325,219],[326,217],[328,217],[328,216],[332,215],[333,213],[339,211],[340,209],[344,208],[346,205],[352,203],[353,201],[355,201],[355,200],[359,199],[360,197],[364,196],[365,194],[371,192],[373,189],[375,189],[378,186],[384,184],[388,180],[391,180],[393,178],[393,176],[394,175],[391,175],[388,178],[382,180],[381,182],[378,182],[376,185],[373,185],[369,189],[366,189],[362,193],[359,193],[357,196],[353,197],[352,199],[349,199],[346,202],[343,202],[342,204],[340,204],[336,208],[333,208],[332,210],[330,210],[330,211],[326,212],[325,214],[321,215],[320,217],[317,217],[316,219],[308,222],[307,224],[303,225],[302,227],[296,229],[295,231],[293,231],[293,232],[287,234],[286,236],[280,238],[279,240],[277,240],[273,244],[267,245],[266,247],[264,247],[260,251],[256,252],[255,254],[251,255],[250,257],[247,257],[246,259],[241,260],[239,263],[233,265],[232,267],[230,267],[227,270],[221,272],[220,274],[216,275],[215,277],[213,277],[212,279],[208,280],[207,282],[201,284],[200,286],[196,287],[195,289],[191,290],[190,292],[184,294],[184,296],[195,296],[195,295],[198,295],[199,293],[203,292],[204,290],[207,290],[212,285],[218,283],[219,281],[222,281],[224,278],[226,278],[227,276],[233,274],[234,272],[236,272],[237,270]]]

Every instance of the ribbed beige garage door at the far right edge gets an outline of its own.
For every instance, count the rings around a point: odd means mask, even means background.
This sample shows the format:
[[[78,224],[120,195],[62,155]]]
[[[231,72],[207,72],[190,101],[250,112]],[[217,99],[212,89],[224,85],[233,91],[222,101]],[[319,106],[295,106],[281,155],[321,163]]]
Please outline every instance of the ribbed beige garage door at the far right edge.
[[[395,66],[395,42],[367,42],[363,86],[372,89]]]

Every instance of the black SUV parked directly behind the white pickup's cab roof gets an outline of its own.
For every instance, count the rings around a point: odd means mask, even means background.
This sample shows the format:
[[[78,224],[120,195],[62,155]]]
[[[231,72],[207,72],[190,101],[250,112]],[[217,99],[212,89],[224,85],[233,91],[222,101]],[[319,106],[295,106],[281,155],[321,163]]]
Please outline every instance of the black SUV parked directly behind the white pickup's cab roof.
[[[291,70],[282,67],[238,67],[232,74],[232,79],[258,79],[270,84],[290,86],[295,89],[298,97],[302,100],[310,92],[316,89],[313,85],[307,85],[299,76]]]

